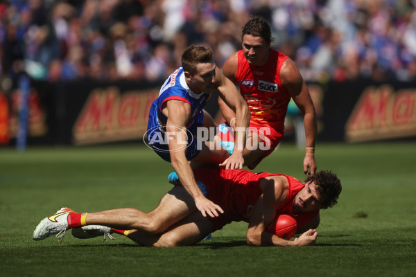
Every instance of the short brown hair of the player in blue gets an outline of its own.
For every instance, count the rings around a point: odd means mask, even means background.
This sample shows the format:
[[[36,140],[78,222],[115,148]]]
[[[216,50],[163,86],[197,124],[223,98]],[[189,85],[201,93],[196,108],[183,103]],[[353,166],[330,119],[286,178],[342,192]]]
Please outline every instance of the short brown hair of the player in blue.
[[[214,62],[212,50],[204,46],[191,45],[182,53],[182,67],[189,74],[196,74],[196,64]]]

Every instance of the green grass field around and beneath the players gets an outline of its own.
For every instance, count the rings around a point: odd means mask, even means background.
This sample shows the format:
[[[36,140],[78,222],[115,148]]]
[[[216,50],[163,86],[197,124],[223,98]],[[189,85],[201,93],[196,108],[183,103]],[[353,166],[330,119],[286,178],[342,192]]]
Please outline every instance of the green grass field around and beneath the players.
[[[416,142],[318,145],[318,169],[341,179],[321,212],[315,246],[248,247],[236,222],[193,247],[117,240],[35,242],[33,229],[61,206],[150,211],[171,166],[143,145],[0,148],[0,276],[416,276]],[[304,179],[303,151],[283,143],[256,171]]]

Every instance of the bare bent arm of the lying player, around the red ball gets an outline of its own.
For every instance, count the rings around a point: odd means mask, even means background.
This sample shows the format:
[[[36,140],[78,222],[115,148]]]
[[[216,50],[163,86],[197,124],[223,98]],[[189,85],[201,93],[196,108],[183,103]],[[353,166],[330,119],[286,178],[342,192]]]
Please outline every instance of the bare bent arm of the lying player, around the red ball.
[[[276,209],[284,204],[288,197],[288,180],[283,176],[263,179],[260,183],[262,194],[252,211],[247,231],[247,242],[254,246],[295,247],[313,244],[316,240],[315,230],[303,233],[296,240],[284,240],[277,235],[266,232],[276,216]]]

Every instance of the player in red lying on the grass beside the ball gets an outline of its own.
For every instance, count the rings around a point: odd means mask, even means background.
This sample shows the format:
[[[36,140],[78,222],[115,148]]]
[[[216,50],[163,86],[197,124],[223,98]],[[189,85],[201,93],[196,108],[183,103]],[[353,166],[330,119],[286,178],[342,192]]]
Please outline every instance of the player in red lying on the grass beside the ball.
[[[304,246],[317,238],[319,210],[336,204],[342,189],[338,177],[328,171],[306,177],[305,184],[288,175],[266,172],[216,167],[193,172],[202,193],[224,207],[218,217],[202,216],[189,193],[177,185],[150,213],[136,208],[75,213],[62,208],[37,225],[33,239],[43,240],[55,234],[62,238],[65,231],[74,229],[72,233],[78,238],[120,233],[144,246],[176,247],[196,244],[226,224],[244,220],[249,223],[250,245]],[[297,233],[302,233],[299,238],[284,240],[266,231],[279,214],[295,218]]]

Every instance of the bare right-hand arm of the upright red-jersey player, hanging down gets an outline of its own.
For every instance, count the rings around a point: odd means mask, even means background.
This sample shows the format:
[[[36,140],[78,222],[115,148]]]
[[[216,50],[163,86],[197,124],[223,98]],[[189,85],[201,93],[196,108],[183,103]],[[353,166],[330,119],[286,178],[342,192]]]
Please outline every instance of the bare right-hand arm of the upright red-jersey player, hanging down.
[[[287,59],[284,65],[281,66],[280,78],[281,83],[288,88],[289,93],[291,93],[293,100],[304,116],[306,135],[304,173],[314,174],[317,168],[314,156],[317,123],[311,95],[293,60]]]

